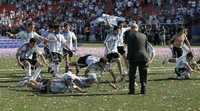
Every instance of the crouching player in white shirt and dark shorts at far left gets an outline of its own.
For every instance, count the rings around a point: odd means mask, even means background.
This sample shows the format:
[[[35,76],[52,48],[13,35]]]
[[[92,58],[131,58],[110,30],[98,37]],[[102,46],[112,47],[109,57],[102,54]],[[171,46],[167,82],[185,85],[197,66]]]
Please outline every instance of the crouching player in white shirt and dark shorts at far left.
[[[29,43],[25,43],[17,50],[16,58],[18,64],[24,69],[26,76],[24,79],[27,80],[36,80],[39,76],[42,64],[38,61],[38,58],[46,63],[44,56],[36,47],[34,38],[31,38]]]

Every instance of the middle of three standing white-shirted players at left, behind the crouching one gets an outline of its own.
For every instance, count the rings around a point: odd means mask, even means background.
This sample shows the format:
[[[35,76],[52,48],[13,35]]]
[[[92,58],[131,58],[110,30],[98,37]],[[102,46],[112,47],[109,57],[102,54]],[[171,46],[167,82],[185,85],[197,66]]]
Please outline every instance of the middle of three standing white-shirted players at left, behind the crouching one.
[[[54,33],[48,35],[48,48],[51,55],[51,73],[53,76],[59,74],[59,65],[63,55],[63,47],[71,51],[67,44],[64,36],[60,34],[59,25],[54,25]]]

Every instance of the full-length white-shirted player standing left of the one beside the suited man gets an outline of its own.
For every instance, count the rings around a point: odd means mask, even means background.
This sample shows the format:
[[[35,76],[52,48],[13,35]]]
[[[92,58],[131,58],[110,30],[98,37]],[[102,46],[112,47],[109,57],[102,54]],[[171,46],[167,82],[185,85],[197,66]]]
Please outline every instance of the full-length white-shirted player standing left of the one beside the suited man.
[[[104,44],[106,46],[106,58],[108,59],[108,62],[110,63],[110,65],[113,62],[117,62],[120,75],[122,76],[122,79],[123,79],[124,77],[123,68],[122,68],[120,56],[117,50],[118,40],[119,40],[119,37],[118,37],[119,31],[120,29],[117,26],[115,26],[113,28],[113,32],[107,35],[106,40],[104,41]],[[111,71],[111,66],[109,70],[110,72],[113,72]]]

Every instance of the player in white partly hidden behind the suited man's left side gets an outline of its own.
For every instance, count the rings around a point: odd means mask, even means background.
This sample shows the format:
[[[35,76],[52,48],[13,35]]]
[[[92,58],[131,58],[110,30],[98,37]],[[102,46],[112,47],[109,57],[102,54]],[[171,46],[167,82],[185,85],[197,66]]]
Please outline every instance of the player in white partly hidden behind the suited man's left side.
[[[126,51],[125,51],[125,45],[124,45],[124,33],[128,30],[130,30],[130,27],[124,27],[124,23],[123,21],[119,21],[118,22],[118,27],[120,29],[119,32],[119,40],[118,40],[118,45],[117,45],[117,50],[119,52],[120,55],[122,55],[124,62],[125,62],[125,66],[128,69],[128,61],[127,61],[127,57],[126,57]]]

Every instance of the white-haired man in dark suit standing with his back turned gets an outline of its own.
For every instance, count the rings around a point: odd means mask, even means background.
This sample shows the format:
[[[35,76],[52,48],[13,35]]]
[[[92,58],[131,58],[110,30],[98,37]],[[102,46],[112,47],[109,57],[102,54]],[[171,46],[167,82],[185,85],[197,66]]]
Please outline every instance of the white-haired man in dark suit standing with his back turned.
[[[138,25],[133,23],[131,24],[131,30],[125,33],[125,42],[128,45],[129,94],[135,94],[137,67],[139,68],[141,94],[145,94],[148,68],[147,37],[145,34],[138,32]]]

